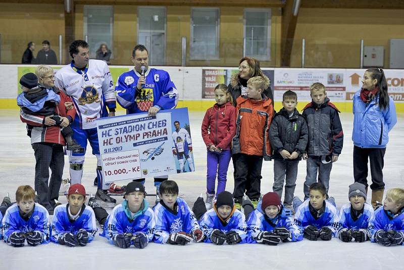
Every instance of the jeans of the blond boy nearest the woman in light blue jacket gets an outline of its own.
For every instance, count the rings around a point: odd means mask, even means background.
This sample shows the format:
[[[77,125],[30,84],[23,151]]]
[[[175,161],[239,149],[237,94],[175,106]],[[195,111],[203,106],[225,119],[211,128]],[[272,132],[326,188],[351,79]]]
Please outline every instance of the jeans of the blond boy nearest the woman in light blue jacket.
[[[317,171],[319,174],[318,182],[324,185],[328,194],[328,188],[330,183],[330,173],[332,168],[332,162],[323,164],[321,162],[321,156],[311,156],[307,160],[306,181],[303,186],[305,193],[305,200],[309,198],[310,185],[317,182]]]

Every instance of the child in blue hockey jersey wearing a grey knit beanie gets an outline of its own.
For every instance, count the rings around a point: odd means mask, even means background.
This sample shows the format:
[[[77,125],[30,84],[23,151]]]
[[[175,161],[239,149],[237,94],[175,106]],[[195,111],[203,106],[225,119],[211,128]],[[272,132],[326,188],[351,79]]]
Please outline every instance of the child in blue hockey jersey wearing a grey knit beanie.
[[[370,240],[369,226],[373,220],[372,205],[366,203],[366,187],[356,182],[349,186],[350,203],[344,204],[339,210],[337,223],[338,238],[342,242],[365,242]]]

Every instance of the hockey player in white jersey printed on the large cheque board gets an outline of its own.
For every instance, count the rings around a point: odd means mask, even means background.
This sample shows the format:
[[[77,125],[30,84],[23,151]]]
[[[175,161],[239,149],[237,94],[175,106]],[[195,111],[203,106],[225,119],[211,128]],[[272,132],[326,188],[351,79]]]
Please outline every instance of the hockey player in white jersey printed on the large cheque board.
[[[180,165],[180,171],[184,171],[185,160],[188,162],[188,167],[190,171],[194,171],[193,161],[191,157],[192,152],[192,142],[188,131],[185,128],[180,127],[179,121],[174,121],[175,131],[173,132],[173,154],[177,155],[178,163]]]

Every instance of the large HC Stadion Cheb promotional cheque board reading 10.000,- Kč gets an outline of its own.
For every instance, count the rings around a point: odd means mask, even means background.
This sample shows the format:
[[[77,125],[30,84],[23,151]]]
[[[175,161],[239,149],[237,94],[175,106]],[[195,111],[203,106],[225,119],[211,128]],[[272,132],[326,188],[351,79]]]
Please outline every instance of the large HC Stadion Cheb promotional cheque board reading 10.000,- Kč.
[[[187,108],[96,123],[106,183],[195,170]]]

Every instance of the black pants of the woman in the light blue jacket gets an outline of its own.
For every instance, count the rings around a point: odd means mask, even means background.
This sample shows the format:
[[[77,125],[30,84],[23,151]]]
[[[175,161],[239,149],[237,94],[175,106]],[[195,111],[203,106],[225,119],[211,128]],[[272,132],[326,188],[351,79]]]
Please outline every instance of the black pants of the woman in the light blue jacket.
[[[368,159],[372,175],[372,190],[384,189],[383,166],[386,148],[360,148],[354,146],[354,179],[368,187]]]

